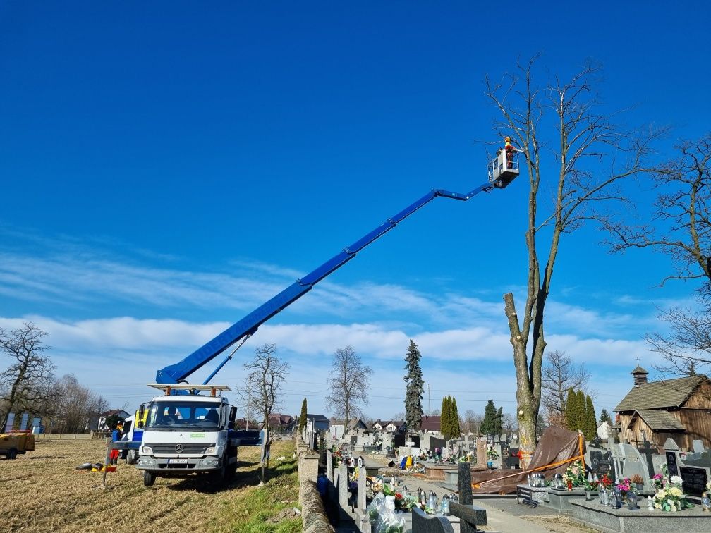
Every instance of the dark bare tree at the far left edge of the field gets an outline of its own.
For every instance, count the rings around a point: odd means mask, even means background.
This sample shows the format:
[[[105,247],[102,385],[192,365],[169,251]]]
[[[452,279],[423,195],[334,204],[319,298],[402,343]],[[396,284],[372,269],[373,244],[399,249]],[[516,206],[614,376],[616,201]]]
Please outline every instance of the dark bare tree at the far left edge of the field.
[[[31,322],[15,330],[0,328],[0,351],[12,360],[0,373],[4,409],[0,430],[4,429],[11,411],[34,411],[52,396],[54,365],[45,353],[50,348],[43,342],[46,335]]]

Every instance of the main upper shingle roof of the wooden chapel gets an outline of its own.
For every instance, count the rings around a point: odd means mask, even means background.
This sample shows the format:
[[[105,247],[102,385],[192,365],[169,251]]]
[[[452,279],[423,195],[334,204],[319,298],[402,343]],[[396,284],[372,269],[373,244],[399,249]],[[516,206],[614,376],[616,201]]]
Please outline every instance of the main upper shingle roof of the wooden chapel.
[[[632,387],[615,411],[638,411],[640,409],[664,409],[680,407],[694,389],[707,379],[704,375],[678,377],[653,381]]]

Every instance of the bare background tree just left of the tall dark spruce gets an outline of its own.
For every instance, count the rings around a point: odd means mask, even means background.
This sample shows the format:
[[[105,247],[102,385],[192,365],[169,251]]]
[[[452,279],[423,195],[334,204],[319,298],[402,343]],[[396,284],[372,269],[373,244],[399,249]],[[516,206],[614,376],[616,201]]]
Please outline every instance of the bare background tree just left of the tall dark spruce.
[[[331,375],[328,379],[331,393],[326,397],[326,407],[346,420],[353,415],[360,416],[363,411],[359,404],[368,405],[368,380],[373,369],[363,365],[353,347],[346,346],[333,353]]]

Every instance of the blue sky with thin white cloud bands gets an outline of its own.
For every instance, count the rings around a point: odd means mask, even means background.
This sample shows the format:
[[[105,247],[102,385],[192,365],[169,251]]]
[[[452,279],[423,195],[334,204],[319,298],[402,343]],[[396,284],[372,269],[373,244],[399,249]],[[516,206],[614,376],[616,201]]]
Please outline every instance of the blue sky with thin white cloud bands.
[[[486,180],[495,110],[483,80],[542,53],[567,77],[592,58],[607,109],[705,134],[709,8],[477,2],[4,2],[0,6],[0,325],[32,320],[58,375],[113,407],[156,370],[326,261],[431,188]],[[552,164],[550,154],[546,154]],[[648,191],[638,195],[648,211]],[[277,343],[284,412],[324,412],[330,355],[375,370],[365,414],[404,409],[405,351],[422,350],[432,408],[493,398],[515,411],[502,295],[525,284],[525,176],[466,203],[439,199],[283,311],[215,382]],[[611,256],[594,227],[562,243],[548,347],[592,371],[597,409],[652,370],[656,307],[691,284],[668,259]],[[208,368],[214,367],[208,365]],[[209,372],[209,370],[208,370]],[[193,382],[202,382],[198,372]],[[427,395],[424,399],[427,406]]]

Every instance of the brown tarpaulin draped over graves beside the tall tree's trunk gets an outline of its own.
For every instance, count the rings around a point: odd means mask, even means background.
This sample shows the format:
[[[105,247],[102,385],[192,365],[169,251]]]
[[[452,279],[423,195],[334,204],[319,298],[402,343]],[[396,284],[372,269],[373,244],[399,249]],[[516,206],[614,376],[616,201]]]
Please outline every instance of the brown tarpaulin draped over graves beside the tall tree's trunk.
[[[528,483],[529,473],[541,472],[546,478],[555,473],[562,474],[568,468],[570,460],[579,456],[577,431],[550,426],[543,432],[531,456],[528,469],[472,471],[471,490],[474,494],[510,494],[516,492],[516,485]],[[562,464],[548,466],[555,463]]]

